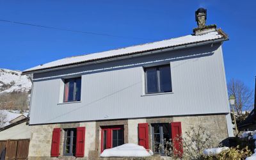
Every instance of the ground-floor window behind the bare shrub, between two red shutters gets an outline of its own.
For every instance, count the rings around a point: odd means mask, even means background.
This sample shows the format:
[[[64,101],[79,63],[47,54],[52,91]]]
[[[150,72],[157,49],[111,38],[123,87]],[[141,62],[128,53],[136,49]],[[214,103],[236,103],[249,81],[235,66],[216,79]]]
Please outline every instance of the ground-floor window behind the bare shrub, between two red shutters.
[[[170,127],[169,124],[152,124],[152,143],[155,154],[164,154],[164,149],[170,145]]]

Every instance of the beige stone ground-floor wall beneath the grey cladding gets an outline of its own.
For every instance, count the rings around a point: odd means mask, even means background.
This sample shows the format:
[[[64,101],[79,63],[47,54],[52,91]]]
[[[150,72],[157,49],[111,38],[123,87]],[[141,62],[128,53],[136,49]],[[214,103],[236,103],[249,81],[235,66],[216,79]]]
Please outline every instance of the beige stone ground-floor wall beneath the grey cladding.
[[[100,158],[100,127],[111,125],[124,126],[124,143],[138,144],[138,124],[148,123],[170,123],[181,122],[182,133],[188,131],[190,127],[197,127],[202,125],[209,129],[211,137],[218,140],[220,143],[228,138],[227,121],[225,114],[219,115],[193,115],[193,116],[166,116],[159,118],[136,118],[126,120],[108,120],[108,121],[96,121],[96,122],[81,122],[70,124],[45,124],[45,125],[31,125],[31,141],[29,144],[29,159],[106,159]],[[149,125],[150,126],[150,125]],[[61,131],[60,140],[60,156],[51,157],[51,141],[52,131],[54,128],[76,128],[86,127],[85,132],[85,146],[84,157],[76,158],[72,156],[63,156],[63,141],[64,132]],[[148,127],[149,147],[152,148],[152,131],[151,127]],[[113,158],[112,158],[113,159]],[[114,158],[115,159],[115,158]],[[122,158],[119,158],[122,159]],[[127,158],[125,158],[127,159]],[[134,159],[134,158],[128,158]],[[144,159],[144,158],[143,158]],[[160,156],[148,157],[145,159],[160,159]]]

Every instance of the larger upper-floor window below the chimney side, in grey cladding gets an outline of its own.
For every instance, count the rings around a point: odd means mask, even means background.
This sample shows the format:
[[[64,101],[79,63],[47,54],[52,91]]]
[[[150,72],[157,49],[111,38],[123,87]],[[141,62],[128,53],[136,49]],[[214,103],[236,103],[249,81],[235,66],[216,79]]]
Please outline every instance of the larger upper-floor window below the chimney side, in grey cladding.
[[[145,93],[172,92],[170,65],[144,68]]]

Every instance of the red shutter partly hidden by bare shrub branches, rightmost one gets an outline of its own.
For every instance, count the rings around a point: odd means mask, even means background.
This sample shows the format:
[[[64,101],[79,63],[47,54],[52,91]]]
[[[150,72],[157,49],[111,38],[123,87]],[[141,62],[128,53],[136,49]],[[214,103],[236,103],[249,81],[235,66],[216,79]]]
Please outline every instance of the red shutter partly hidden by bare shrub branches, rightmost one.
[[[173,148],[173,153],[181,157],[183,154],[182,140],[180,140],[180,136],[182,136],[181,122],[172,122],[171,129],[173,147],[175,148]]]

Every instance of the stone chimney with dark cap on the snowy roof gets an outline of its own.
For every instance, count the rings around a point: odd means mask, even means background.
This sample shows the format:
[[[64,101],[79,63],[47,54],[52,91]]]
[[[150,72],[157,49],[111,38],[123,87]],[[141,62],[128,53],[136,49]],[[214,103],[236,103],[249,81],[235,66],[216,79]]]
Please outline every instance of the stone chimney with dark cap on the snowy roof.
[[[195,18],[197,23],[197,28],[193,29],[195,35],[202,35],[204,33],[208,33],[211,31],[216,31],[216,25],[212,24],[209,26],[205,26],[207,19],[207,10],[205,8],[198,8],[195,12]]]

